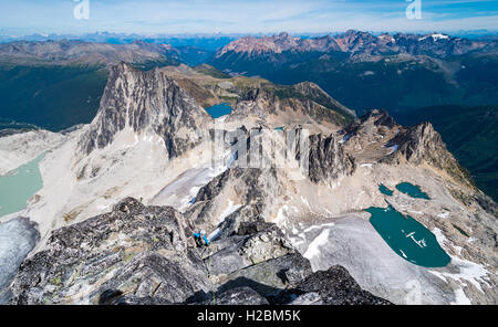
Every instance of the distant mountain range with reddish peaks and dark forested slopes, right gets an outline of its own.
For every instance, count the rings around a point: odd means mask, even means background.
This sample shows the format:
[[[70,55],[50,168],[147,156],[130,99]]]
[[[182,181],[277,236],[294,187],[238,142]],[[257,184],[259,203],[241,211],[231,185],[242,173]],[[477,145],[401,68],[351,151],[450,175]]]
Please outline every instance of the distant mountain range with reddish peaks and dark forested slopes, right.
[[[392,113],[424,106],[497,103],[498,42],[433,33],[347,31],[336,36],[287,33],[231,42],[211,65],[274,83],[310,81],[344,105]]]

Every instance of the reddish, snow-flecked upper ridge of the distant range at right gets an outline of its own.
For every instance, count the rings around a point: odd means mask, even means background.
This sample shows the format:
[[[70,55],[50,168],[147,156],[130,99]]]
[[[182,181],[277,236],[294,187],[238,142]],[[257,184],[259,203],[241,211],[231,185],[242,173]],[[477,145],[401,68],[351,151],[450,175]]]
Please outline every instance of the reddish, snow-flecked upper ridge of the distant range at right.
[[[230,42],[218,51],[216,59],[240,60],[246,57],[264,56],[277,61],[278,54],[288,52],[343,52],[354,55],[412,54],[447,57],[450,55],[470,53],[476,50],[496,51],[494,41],[474,41],[452,38],[445,34],[403,34],[390,35],[383,33],[373,35],[369,32],[349,30],[335,36],[301,39],[292,38],[288,33],[279,35],[255,38],[247,36]]]

